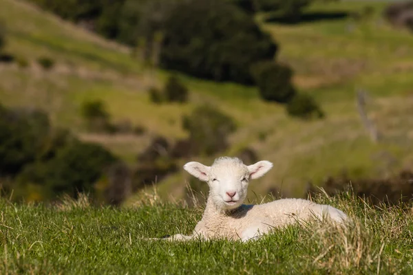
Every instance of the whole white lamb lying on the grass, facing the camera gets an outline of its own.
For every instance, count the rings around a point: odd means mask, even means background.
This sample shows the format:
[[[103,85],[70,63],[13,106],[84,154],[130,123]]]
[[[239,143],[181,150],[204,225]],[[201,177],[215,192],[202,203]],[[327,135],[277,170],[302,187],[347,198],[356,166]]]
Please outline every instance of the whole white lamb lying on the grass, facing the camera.
[[[258,205],[242,204],[246,198],[249,179],[262,177],[273,167],[268,161],[246,166],[236,157],[220,157],[212,166],[188,162],[184,169],[209,185],[209,197],[202,219],[191,236],[176,234],[166,240],[186,241],[202,239],[229,239],[248,241],[267,234],[274,228],[310,217],[330,218],[342,223],[348,219],[341,210],[305,199],[279,199]]]

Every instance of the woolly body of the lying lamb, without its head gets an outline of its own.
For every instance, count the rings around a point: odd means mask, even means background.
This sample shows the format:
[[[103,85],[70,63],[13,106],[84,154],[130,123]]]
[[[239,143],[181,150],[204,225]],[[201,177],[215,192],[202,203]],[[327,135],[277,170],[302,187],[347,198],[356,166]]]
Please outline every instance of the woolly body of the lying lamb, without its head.
[[[202,236],[205,239],[242,239],[246,241],[270,230],[281,228],[296,221],[330,218],[341,222],[347,216],[332,206],[321,205],[306,199],[279,199],[269,203],[245,205],[220,212],[209,201],[202,219],[193,230],[192,236],[175,235],[171,239],[191,239]]]

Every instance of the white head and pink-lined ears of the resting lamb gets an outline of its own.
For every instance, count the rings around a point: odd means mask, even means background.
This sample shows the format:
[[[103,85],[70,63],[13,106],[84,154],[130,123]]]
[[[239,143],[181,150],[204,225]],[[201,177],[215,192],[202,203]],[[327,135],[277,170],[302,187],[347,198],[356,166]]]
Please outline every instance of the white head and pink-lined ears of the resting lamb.
[[[272,167],[273,164],[266,160],[246,166],[236,157],[219,157],[212,166],[199,162],[184,165],[191,175],[208,182],[209,199],[222,210],[240,206],[246,198],[248,180],[262,177]]]

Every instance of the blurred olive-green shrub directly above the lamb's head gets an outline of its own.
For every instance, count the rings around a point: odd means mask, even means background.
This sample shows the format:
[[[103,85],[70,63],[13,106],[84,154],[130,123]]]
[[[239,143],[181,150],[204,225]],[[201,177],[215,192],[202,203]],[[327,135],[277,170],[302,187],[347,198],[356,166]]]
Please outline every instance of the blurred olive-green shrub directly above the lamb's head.
[[[227,136],[237,126],[228,115],[209,105],[202,105],[182,119],[184,129],[197,153],[213,155],[227,148]]]

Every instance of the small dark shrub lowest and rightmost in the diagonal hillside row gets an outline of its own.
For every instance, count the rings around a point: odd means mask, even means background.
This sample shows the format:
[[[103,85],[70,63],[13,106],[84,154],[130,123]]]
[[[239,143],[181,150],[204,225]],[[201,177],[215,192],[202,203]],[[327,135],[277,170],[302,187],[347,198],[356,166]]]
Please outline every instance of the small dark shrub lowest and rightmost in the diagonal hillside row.
[[[314,98],[308,94],[297,94],[287,105],[287,112],[291,116],[310,119],[324,118],[324,112],[319,108]]]

